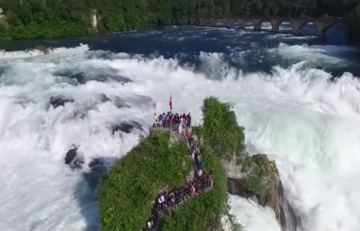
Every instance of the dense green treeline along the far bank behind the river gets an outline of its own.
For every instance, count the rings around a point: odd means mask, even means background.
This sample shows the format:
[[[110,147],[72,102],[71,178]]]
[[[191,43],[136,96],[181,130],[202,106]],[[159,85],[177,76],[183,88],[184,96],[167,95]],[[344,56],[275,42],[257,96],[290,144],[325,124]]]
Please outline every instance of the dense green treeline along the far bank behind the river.
[[[0,39],[185,24],[188,14],[349,16],[355,0],[0,0]],[[96,20],[94,20],[96,19]],[[96,21],[96,25],[93,25]]]

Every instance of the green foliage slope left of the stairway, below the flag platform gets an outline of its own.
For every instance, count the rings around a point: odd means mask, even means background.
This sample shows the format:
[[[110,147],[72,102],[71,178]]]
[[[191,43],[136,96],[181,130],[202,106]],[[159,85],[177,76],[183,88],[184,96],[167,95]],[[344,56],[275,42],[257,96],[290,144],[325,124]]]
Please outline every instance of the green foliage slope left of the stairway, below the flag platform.
[[[169,133],[152,132],[100,181],[101,230],[140,230],[158,190],[184,185],[191,158],[185,143],[170,148],[169,139]]]

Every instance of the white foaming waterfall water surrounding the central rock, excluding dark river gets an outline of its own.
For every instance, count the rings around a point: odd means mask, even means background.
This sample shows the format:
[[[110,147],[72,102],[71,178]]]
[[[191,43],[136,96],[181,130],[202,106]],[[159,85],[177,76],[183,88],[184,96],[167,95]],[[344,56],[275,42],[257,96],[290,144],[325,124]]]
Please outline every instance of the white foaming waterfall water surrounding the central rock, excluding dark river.
[[[291,69],[275,68],[273,77],[262,73],[236,76],[237,71],[229,69],[219,54],[202,53],[203,63],[211,63],[203,69],[223,77],[220,81],[182,69],[176,60],[130,59],[127,54],[103,60],[96,58],[100,53],[83,45],[48,56],[1,54],[2,231],[96,226],[96,192],[78,171],[63,164],[65,153],[72,143],[79,143],[87,161],[125,154],[142,132],[119,137],[106,126],[133,120],[146,128],[153,113],[168,109],[170,91],[174,111],[191,112],[196,123],[201,123],[204,97],[212,95],[235,104],[249,151],[268,153],[276,161],[287,197],[306,230],[360,230],[356,197],[360,195],[360,84],[351,74],[329,83],[329,74],[323,70],[302,69],[303,63],[298,63]],[[68,79],[57,76],[61,71],[84,72],[92,80],[70,85]],[[133,82],[96,81],[96,76],[116,71]],[[103,103],[102,93],[112,100],[120,97],[130,107]],[[58,94],[75,102],[54,109],[49,97]],[[139,96],[151,97],[153,102]],[[76,116],[81,113],[87,116]],[[230,205],[247,231],[280,230],[271,209],[233,196]]]

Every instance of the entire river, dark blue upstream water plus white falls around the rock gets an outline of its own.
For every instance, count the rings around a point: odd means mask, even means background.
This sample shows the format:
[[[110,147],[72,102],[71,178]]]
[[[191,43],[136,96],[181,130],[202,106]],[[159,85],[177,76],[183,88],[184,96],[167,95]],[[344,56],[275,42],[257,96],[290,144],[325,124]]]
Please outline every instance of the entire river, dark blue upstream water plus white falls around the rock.
[[[360,230],[359,52],[336,28],[327,40],[283,29],[185,26],[1,43],[0,229],[96,230],[98,176],[72,171],[64,155],[73,143],[87,162],[126,154],[172,91],[175,111],[195,123],[204,97],[235,104],[248,151],[276,161],[305,230]],[[58,48],[24,51],[40,44]],[[54,108],[56,96],[71,101]],[[142,127],[111,133],[124,122]],[[230,206],[247,231],[280,230],[270,208],[235,196]]]

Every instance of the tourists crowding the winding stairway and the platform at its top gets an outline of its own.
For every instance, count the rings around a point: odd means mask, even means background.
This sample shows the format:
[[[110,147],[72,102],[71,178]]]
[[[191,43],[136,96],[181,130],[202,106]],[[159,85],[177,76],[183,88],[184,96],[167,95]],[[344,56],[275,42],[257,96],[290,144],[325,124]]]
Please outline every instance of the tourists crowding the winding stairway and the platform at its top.
[[[165,115],[165,114],[164,114]],[[146,231],[157,231],[158,227],[161,223],[162,218],[169,213],[170,211],[178,208],[182,204],[184,204],[189,199],[193,199],[202,193],[205,189],[212,188],[213,180],[211,172],[205,171],[205,163],[202,161],[202,156],[200,153],[199,148],[197,147],[196,141],[194,140],[193,135],[190,133],[187,127],[191,125],[191,116],[190,113],[188,115],[178,115],[178,114],[171,114],[171,112],[167,113],[167,115],[171,115],[172,121],[167,124],[169,119],[166,120],[166,116],[162,116],[162,123],[161,126],[167,125],[170,126],[171,123],[175,124],[183,124],[184,125],[185,133],[183,131],[178,131],[181,134],[184,134],[186,142],[189,144],[189,152],[192,156],[193,161],[193,171],[195,177],[193,180],[189,180],[181,189],[173,189],[170,191],[166,191],[160,195],[158,195],[152,216],[147,222],[147,227],[145,228]],[[158,125],[160,123],[159,117],[157,117],[157,121],[155,120],[154,115],[154,127],[160,127]],[[163,119],[165,118],[165,120]],[[165,122],[165,124],[163,124]],[[186,126],[187,125],[187,126]],[[177,131],[175,131],[177,132]]]

